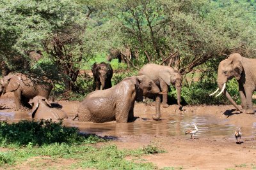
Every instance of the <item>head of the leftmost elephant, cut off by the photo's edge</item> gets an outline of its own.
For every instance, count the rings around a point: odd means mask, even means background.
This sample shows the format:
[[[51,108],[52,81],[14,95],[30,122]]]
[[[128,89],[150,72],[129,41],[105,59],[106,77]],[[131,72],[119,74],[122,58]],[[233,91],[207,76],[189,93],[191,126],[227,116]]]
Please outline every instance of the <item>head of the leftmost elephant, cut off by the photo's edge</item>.
[[[0,80],[0,96],[6,92],[17,90],[20,85],[21,76],[9,73]]]

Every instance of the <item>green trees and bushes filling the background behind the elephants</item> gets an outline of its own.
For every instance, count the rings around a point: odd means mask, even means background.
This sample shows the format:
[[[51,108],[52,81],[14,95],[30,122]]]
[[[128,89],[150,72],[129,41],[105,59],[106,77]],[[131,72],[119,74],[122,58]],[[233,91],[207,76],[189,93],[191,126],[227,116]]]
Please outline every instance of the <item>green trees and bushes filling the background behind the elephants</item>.
[[[256,56],[255,0],[4,0],[0,9],[2,76],[49,76],[54,91],[68,99],[94,89],[82,70],[106,61],[115,48],[131,49],[133,58],[129,69],[111,61],[114,85],[148,62],[172,66],[184,76],[189,104],[226,103],[208,97],[217,87],[218,63],[233,52]],[[229,83],[238,100],[236,88],[236,81]]]

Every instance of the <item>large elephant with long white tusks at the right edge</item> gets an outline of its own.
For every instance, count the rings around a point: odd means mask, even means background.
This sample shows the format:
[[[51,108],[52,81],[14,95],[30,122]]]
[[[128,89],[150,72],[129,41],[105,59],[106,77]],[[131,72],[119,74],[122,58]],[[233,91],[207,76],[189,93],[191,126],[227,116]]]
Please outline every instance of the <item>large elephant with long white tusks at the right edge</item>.
[[[225,89],[227,81],[234,77],[239,85],[242,110]],[[242,57],[239,53],[230,54],[227,59],[222,60],[219,64],[217,83],[218,89],[210,94],[210,96],[216,94],[221,89],[220,93],[216,96],[220,96],[223,93],[228,101],[241,113],[254,113],[252,94],[256,86],[256,59]]]

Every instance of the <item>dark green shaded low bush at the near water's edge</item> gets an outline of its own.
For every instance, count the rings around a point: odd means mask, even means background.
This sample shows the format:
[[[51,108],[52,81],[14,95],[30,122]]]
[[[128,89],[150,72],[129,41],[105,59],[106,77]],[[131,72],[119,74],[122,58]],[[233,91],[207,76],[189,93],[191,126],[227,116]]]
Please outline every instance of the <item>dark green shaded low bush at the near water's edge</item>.
[[[87,141],[87,139],[89,139]],[[65,127],[62,122],[40,120],[40,122],[22,120],[8,124],[0,122],[0,144],[34,146],[51,143],[82,143],[95,141],[90,136],[81,136],[76,127]]]

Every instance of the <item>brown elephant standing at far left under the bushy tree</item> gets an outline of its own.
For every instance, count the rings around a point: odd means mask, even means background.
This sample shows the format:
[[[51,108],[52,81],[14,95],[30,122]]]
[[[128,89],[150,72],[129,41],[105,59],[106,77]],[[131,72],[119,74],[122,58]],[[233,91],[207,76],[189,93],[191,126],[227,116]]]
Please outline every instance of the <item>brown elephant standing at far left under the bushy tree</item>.
[[[52,87],[51,80],[44,76],[32,78],[22,73],[9,73],[0,80],[0,97],[6,92],[13,92],[15,110],[20,110],[22,106],[31,108],[29,99],[35,96],[48,98]]]

